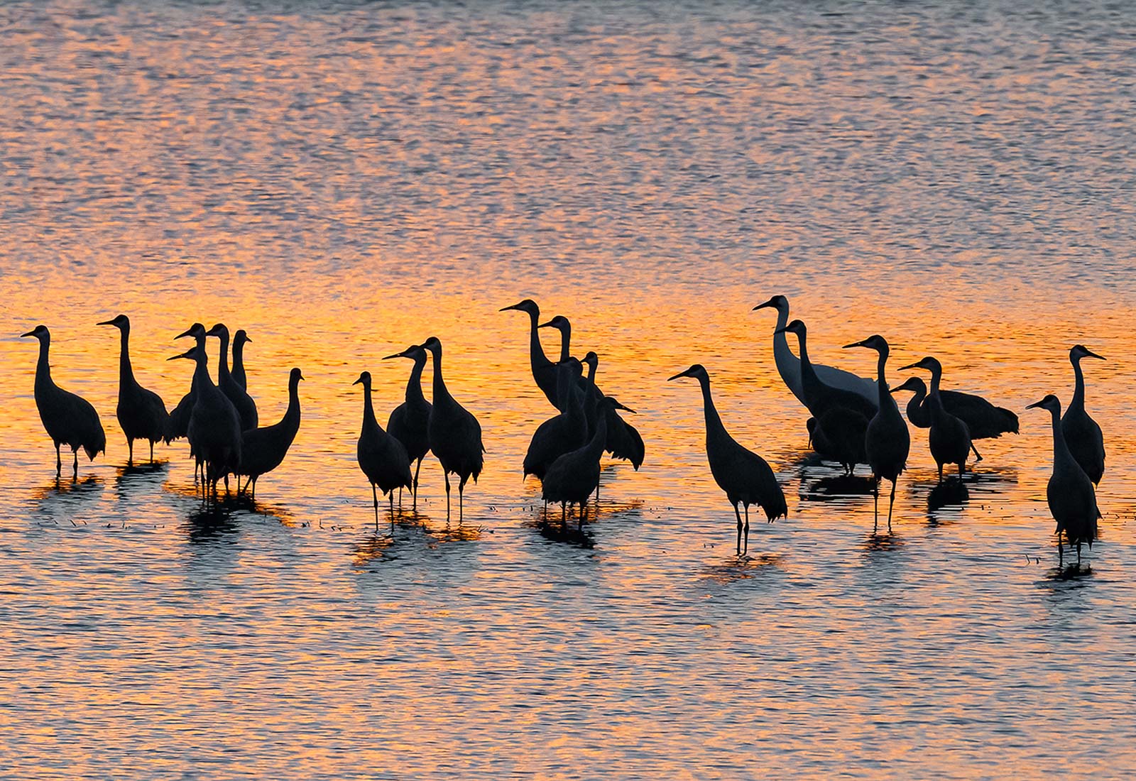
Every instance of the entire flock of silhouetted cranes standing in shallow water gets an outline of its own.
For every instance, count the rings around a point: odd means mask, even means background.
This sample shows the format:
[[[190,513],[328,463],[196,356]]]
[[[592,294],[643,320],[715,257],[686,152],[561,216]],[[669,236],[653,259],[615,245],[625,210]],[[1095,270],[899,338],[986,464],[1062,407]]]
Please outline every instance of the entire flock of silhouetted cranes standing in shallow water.
[[[766,308],[777,311],[774,360],[786,387],[809,412],[805,428],[810,446],[822,459],[842,464],[847,475],[852,475],[858,464],[869,467],[877,526],[882,480],[892,484],[888,529],[892,526],[895,487],[910,455],[908,422],[929,429],[928,444],[938,468],[939,482],[943,481],[944,467],[957,467],[961,476],[971,453],[976,460],[982,460],[975,439],[1018,433],[1018,418],[1013,412],[979,396],[943,389],[943,367],[935,358],[927,356],[900,369],[929,372],[929,389],[919,377],[910,377],[892,388],[886,378],[889,347],[884,337],[872,335],[845,345],[846,348],[862,347],[876,353],[876,379],[866,379],[812,362],[808,329],[801,320],[788,319],[785,296],[775,295],[754,310]],[[541,480],[545,511],[549,503],[559,504],[561,521],[566,522],[567,514],[576,505],[579,523],[583,524],[588,499],[593,493],[599,493],[603,453],[629,461],[636,470],[643,463],[643,438],[619,414],[620,411],[634,410],[599,388],[595,376],[600,359],[595,352],[587,352],[583,359],[571,355],[571,324],[567,318],[557,316],[541,322],[540,306],[529,299],[501,311],[528,314],[533,379],[556,408],[556,414],[533,434],[523,472],[526,477],[534,475]],[[126,436],[130,463],[133,463],[134,443],[137,440],[149,443],[152,461],[154,443],[169,444],[184,437],[194,459],[194,480],[200,476],[207,499],[216,501],[222,480],[227,490],[229,476],[236,478],[239,494],[250,492],[254,498],[257,480],[283,462],[300,428],[298,388],[303,379],[300,369],[290,372],[289,404],[284,417],[274,425],[261,427],[257,404],[247,389],[243,346],[251,342],[248,334],[237,330],[231,342],[225,325],[217,324],[206,330],[203,325],[195,322],[176,337],[193,338],[193,346],[169,359],[193,361],[190,389],[167,413],[162,400],[142,387],[134,377],[130,358],[130,318],[119,314],[98,325],[114,326],[120,335],[116,412]],[[544,353],[541,328],[556,328],[560,333],[557,361]],[[796,338],[796,354],[788,345],[790,334]],[[35,402],[43,427],[56,447],[56,477],[58,479],[62,470],[60,448],[64,445],[72,450],[73,473],[77,476],[81,448],[91,460],[106,451],[102,423],[89,402],[64,390],[52,380],[49,362],[51,335],[47,327],[37,326],[22,336],[35,337],[40,343]],[[219,343],[216,383],[208,366],[207,339],[210,337]],[[418,475],[423,460],[431,453],[438,460],[445,478],[448,519],[451,513],[450,476],[458,480],[458,518],[461,522],[466,485],[470,478],[476,482],[484,467],[485,446],[481,425],[446,388],[442,371],[442,343],[437,337],[410,345],[384,360],[396,358],[411,360],[412,368],[406,398],[392,411],[385,429],[375,415],[370,373],[364,371],[354,381],[362,385],[364,392],[357,459],[371,486],[376,527],[379,493],[390,498],[392,522],[394,489],[399,489],[400,501],[403,489],[411,492],[417,506]],[[1092,545],[1096,537],[1100,510],[1094,486],[1104,473],[1103,435],[1100,426],[1085,411],[1085,378],[1080,367],[1085,358],[1101,359],[1083,345],[1076,345],[1070,351],[1075,390],[1063,415],[1061,403],[1053,395],[1027,408],[1044,409],[1052,417],[1053,475],[1046,494],[1056,521],[1059,554],[1063,559],[1063,538],[1076,547],[1078,563],[1081,544]],[[426,400],[421,386],[423,370],[428,360],[433,361],[432,401]],[[766,460],[741,445],[726,430],[711,396],[707,369],[694,364],[670,377],[671,380],[679,378],[696,379],[701,387],[710,472],[734,507],[737,554],[744,555],[749,548],[750,507],[760,507],[770,522],[785,517],[788,509],[784,492]],[[913,393],[905,408],[907,420],[894,396],[901,390]]]

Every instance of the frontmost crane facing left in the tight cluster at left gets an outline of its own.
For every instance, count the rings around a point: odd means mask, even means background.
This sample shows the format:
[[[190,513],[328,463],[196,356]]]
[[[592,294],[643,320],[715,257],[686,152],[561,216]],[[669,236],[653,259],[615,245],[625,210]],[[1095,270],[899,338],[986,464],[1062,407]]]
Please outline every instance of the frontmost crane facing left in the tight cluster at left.
[[[235,472],[241,463],[241,418],[233,402],[214,385],[209,377],[208,356],[200,345],[181,355],[194,362],[193,412],[187,433],[194,455],[204,462],[206,484],[217,496],[217,481]]]

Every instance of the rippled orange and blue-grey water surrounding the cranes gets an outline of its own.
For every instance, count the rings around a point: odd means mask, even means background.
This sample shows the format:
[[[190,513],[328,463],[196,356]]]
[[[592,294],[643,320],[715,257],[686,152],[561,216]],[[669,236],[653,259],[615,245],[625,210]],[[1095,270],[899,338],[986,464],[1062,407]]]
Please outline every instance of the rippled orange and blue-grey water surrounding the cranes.
[[[1136,771],[1134,61],[1122,5],[16,3],[0,8],[0,766],[18,778],[1039,776]],[[810,461],[777,377],[924,354],[1020,412],[967,496],[914,431],[891,536]],[[638,410],[580,534],[520,462],[550,409],[533,296]],[[126,470],[117,338],[247,328],[303,426],[258,504],[202,511],[184,443]],[[56,486],[32,400],[109,452]],[[436,334],[486,469],[371,523],[351,381],[382,410]],[[1044,502],[1068,347],[1105,430],[1102,539],[1062,579]],[[554,353],[553,341],[545,342]],[[733,555],[692,362],[790,518]],[[385,420],[385,413],[381,414]]]

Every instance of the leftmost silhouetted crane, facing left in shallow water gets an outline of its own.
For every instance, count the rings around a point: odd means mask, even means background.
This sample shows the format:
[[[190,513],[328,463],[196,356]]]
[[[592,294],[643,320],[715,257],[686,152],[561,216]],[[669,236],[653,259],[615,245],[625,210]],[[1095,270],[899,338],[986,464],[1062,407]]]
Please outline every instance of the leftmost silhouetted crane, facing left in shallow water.
[[[40,341],[40,360],[35,364],[35,406],[40,410],[43,428],[56,446],[56,479],[62,471],[62,460],[59,446],[67,445],[75,456],[73,478],[78,478],[78,448],[82,447],[86,457],[94,456],[107,450],[107,435],[102,430],[99,413],[91,402],[74,393],[64,390],[51,379],[51,363],[48,351],[51,348],[51,333],[45,326],[36,326],[20,337],[34,336]]]

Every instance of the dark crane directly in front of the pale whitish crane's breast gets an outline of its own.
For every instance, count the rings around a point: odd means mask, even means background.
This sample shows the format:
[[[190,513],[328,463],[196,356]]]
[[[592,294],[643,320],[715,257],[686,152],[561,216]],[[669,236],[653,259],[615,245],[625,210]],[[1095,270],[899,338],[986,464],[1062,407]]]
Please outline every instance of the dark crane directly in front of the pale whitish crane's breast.
[[[858,463],[868,460],[864,442],[868,421],[876,415],[878,398],[869,403],[853,390],[826,385],[817,377],[809,359],[808,329],[800,320],[793,320],[780,329],[795,334],[801,353],[801,390],[805,406],[812,413],[813,425],[809,428],[812,448],[824,457],[838,461],[847,475],[852,475]],[[872,387],[875,387],[872,383]],[[878,389],[877,389],[878,395]]]

